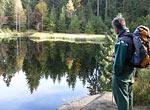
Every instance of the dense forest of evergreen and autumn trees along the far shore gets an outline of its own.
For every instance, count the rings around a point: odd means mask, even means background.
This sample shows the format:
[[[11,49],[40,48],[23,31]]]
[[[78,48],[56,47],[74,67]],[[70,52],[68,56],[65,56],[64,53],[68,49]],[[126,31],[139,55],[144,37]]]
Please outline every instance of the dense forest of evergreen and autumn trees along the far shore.
[[[118,14],[128,27],[150,24],[149,0],[0,0],[2,29],[102,34]]]

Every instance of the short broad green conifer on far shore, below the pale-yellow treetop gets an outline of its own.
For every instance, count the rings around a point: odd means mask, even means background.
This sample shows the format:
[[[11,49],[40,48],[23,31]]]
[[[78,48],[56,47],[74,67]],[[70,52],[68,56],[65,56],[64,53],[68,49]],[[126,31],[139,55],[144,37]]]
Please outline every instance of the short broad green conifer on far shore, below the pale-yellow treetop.
[[[69,32],[76,34],[80,33],[80,22],[76,14],[73,16],[72,21],[69,25]]]

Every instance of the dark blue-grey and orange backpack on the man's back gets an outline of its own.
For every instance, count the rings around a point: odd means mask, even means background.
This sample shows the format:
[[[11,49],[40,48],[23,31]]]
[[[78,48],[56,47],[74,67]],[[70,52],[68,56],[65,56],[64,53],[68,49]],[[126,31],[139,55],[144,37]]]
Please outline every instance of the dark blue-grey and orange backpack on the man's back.
[[[131,58],[131,64],[137,68],[146,68],[150,64],[150,34],[149,28],[139,26],[133,33],[135,51]]]

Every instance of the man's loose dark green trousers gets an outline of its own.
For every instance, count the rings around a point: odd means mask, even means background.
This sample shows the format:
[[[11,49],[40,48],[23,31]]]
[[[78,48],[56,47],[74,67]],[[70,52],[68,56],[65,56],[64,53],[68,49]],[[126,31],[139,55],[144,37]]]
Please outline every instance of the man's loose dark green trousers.
[[[133,110],[132,73],[112,77],[112,90],[118,110]]]

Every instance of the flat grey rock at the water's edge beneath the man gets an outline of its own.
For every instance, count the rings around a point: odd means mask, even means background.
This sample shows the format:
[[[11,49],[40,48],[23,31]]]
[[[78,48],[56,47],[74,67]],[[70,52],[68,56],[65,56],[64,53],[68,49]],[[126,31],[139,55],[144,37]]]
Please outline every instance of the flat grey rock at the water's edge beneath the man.
[[[77,99],[59,107],[58,110],[117,110],[117,106],[112,99],[112,93],[106,92]],[[133,110],[150,109],[145,106],[136,106]]]

